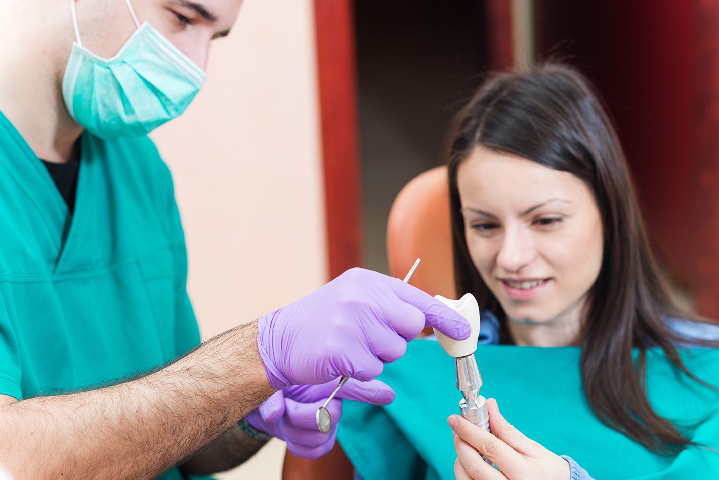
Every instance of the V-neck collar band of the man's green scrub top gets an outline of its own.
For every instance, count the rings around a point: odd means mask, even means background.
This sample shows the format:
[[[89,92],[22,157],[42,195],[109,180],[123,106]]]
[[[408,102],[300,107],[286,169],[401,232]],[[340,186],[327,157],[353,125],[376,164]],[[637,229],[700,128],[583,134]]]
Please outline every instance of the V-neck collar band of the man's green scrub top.
[[[33,204],[50,233],[50,239],[52,239],[50,257],[54,259],[54,264],[50,266],[52,272],[67,272],[75,269],[70,262],[71,257],[82,250],[80,246],[76,245],[80,240],[75,240],[73,237],[82,236],[83,240],[88,242],[89,248],[86,250],[88,254],[93,250],[92,245],[96,244],[87,235],[89,233],[87,224],[91,223],[88,215],[91,215],[93,208],[88,206],[92,197],[88,190],[94,188],[93,184],[96,183],[90,177],[92,171],[97,167],[97,165],[93,165],[96,162],[93,162],[92,158],[94,145],[91,135],[83,132],[79,139],[81,142],[80,171],[75,193],[75,212],[70,213],[50,172],[47,171],[45,165],[42,165],[37,154],[2,112],[0,112],[0,128],[6,130],[17,147],[17,152],[8,154],[10,175],[24,190],[29,202]]]

